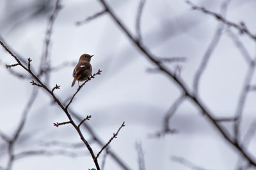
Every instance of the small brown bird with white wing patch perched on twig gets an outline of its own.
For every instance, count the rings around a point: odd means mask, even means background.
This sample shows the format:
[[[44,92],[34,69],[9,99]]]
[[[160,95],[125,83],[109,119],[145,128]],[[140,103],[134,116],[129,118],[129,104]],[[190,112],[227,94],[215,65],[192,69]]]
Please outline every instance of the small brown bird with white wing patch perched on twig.
[[[93,55],[89,55],[87,53],[84,53],[83,55],[81,55],[73,71],[74,80],[71,87],[74,86],[74,84],[76,83],[76,80],[84,81],[88,79],[90,75],[92,75],[92,65],[90,64],[90,60],[92,57]]]

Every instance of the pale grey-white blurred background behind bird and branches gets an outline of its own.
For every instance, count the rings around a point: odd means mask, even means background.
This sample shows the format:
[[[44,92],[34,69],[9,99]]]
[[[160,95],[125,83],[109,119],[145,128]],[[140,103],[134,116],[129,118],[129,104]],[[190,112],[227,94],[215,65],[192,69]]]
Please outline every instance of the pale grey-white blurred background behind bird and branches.
[[[12,50],[27,59],[31,65],[39,67],[44,52],[44,39],[47,22],[54,10],[56,1],[47,0],[1,0],[0,35]],[[99,138],[106,143],[113,132],[125,122],[118,138],[110,144],[129,169],[139,169],[138,148],[140,143],[145,159],[145,169],[193,169],[181,164],[173,157],[188,160],[202,169],[239,169],[246,164],[239,153],[216,131],[216,127],[203,117],[196,106],[188,99],[184,101],[170,120],[170,127],[177,129],[175,134],[160,138],[152,135],[163,129],[164,115],[180,96],[180,89],[163,73],[150,73],[148,69],[156,66],[150,62],[137,46],[127,38],[108,13],[90,22],[76,25],[95,13],[102,11],[99,1],[75,0],[60,1],[62,9],[53,25],[49,54],[51,66],[63,62],[77,62],[83,53],[93,54],[93,73],[98,69],[102,74],[86,83],[70,105],[70,109],[81,117],[92,115],[86,122],[92,126]],[[192,1],[198,6],[220,13],[223,1]],[[136,14],[140,1],[107,1],[125,27],[136,35]],[[227,8],[227,19],[238,23],[243,21],[255,33],[256,1],[231,0]],[[212,41],[214,32],[220,24],[216,18],[200,11],[191,10],[186,1],[146,0],[141,15],[141,38],[147,49],[157,57],[186,57],[185,62],[166,63],[175,70],[181,67],[180,76],[189,89],[193,88],[193,78],[200,66],[202,57]],[[255,41],[232,32],[241,40],[250,57],[255,57]],[[22,111],[28,103],[33,88],[32,79],[13,76],[4,64],[15,64],[15,60],[0,50],[0,131],[12,136],[19,125]],[[76,92],[77,84],[71,88],[72,66],[52,71],[49,87],[56,83],[61,89],[55,90],[61,101]],[[19,66],[11,68],[28,74]],[[243,89],[248,64],[228,34],[227,28],[202,74],[198,94],[200,99],[216,117],[232,117],[236,113],[239,96]],[[44,77],[42,78],[44,80]],[[255,76],[252,84],[255,85]],[[255,121],[256,93],[250,92],[244,105],[241,134],[248,131]],[[65,154],[33,155],[13,162],[12,169],[89,169],[94,167],[92,158],[85,146],[79,148],[51,145],[45,143],[60,141],[66,144],[81,143],[71,125],[54,127],[54,122],[68,121],[65,113],[42,89],[29,110],[24,129],[15,144],[14,153],[31,150],[68,150],[77,157]],[[232,122],[223,123],[232,133]],[[255,127],[256,128],[256,127]],[[84,131],[90,141],[91,136]],[[256,157],[256,138],[248,146],[248,151]],[[100,146],[92,142],[97,153]],[[104,154],[100,155],[101,164]],[[0,166],[6,167],[7,145],[0,139]],[[122,169],[107,156],[104,169]],[[249,168],[248,168],[249,169]],[[253,169],[253,167],[251,167]],[[255,169],[255,168],[254,168]]]

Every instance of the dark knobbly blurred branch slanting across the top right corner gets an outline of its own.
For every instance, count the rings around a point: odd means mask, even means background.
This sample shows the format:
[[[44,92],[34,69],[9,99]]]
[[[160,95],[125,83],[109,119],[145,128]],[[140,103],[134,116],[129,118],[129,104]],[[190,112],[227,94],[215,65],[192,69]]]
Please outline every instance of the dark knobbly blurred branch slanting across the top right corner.
[[[254,41],[256,40],[256,36],[254,34],[252,34],[248,28],[246,27],[246,25],[244,24],[244,22],[240,22],[239,24],[236,24],[234,22],[230,22],[228,20],[226,20],[221,14],[219,13],[215,13],[212,11],[207,10],[204,7],[200,7],[200,6],[196,6],[195,4],[191,3],[191,1],[187,1],[187,3],[192,7],[193,10],[197,10],[197,11],[202,11],[205,14],[208,15],[212,15],[213,17],[215,17],[217,20],[220,20],[221,22],[225,23],[226,25],[230,26],[230,27],[234,27],[236,28],[241,34],[246,34],[247,36],[249,36],[250,38],[252,38]]]

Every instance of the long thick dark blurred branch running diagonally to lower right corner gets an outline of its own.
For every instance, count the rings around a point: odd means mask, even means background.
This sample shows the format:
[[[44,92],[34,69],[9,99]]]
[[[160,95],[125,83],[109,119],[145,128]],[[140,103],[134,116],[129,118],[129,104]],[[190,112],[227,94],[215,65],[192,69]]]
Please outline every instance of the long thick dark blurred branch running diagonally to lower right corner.
[[[111,16],[111,18],[113,18],[113,20],[116,22],[116,24],[122,29],[122,31],[124,32],[124,34],[131,39],[131,42],[134,43],[134,45],[136,45],[136,47],[138,47],[138,49],[144,53],[145,57],[147,57],[148,60],[150,60],[154,65],[156,65],[159,70],[163,71],[164,74],[166,74],[172,81],[174,81],[176,83],[176,85],[180,88],[180,90],[182,90],[182,92],[184,92],[184,94],[191,100],[192,103],[195,104],[195,106],[197,106],[200,111],[202,111],[202,113],[205,115],[206,118],[208,118],[210,120],[210,122],[214,125],[214,127],[216,127],[216,129],[218,129],[218,131],[220,132],[220,134],[223,136],[223,138],[228,141],[228,143],[230,143],[230,145],[234,146],[234,148],[237,149],[237,151],[244,156],[244,158],[246,160],[248,160],[248,162],[250,162],[250,164],[252,164],[253,166],[256,167],[256,160],[254,159],[254,157],[252,157],[252,155],[250,153],[248,153],[246,150],[244,150],[243,148],[241,148],[241,146],[239,145],[239,143],[237,143],[229,134],[229,132],[227,131],[227,129],[225,129],[225,127],[223,127],[222,125],[218,124],[218,122],[216,122],[214,120],[213,114],[211,113],[211,111],[204,105],[204,103],[202,103],[202,101],[200,101],[200,99],[196,96],[194,96],[188,89],[186,83],[182,80],[182,78],[175,76],[175,74],[172,73],[172,71],[170,71],[166,66],[164,66],[163,64],[161,64],[160,62],[158,62],[158,60],[156,60],[154,58],[154,55],[152,55],[152,53],[150,53],[147,48],[145,48],[145,46],[143,46],[140,41],[136,40],[131,32],[128,31],[128,29],[124,26],[124,24],[122,24],[122,22],[120,21],[119,18],[116,17],[115,13],[113,12],[113,10],[108,6],[108,4],[104,1],[104,0],[99,0],[100,3],[102,4],[102,6],[104,6],[104,8],[108,11],[109,15]]]

